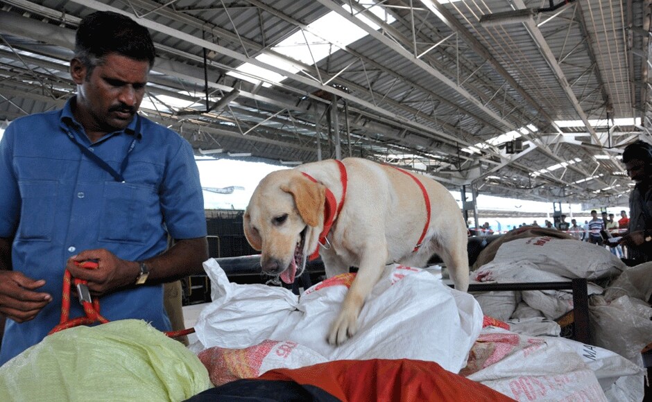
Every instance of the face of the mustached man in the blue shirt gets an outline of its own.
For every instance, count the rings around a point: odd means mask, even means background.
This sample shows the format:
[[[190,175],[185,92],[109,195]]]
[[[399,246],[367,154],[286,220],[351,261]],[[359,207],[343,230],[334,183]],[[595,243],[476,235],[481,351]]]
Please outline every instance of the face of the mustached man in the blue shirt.
[[[78,87],[76,117],[89,132],[112,132],[126,128],[138,111],[149,63],[110,53],[90,74],[72,60],[71,73]]]

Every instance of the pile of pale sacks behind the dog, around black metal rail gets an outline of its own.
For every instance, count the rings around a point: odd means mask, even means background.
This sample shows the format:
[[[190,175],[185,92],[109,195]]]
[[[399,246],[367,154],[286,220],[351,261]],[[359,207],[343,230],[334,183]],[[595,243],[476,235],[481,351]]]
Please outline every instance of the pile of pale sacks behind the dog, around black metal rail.
[[[537,236],[501,243],[492,261],[471,274],[472,282],[485,283],[568,281],[576,278],[589,281],[587,290],[594,346],[585,347],[599,351],[601,356],[612,353],[610,366],[617,372],[622,369],[624,375],[609,387],[603,386],[608,400],[642,400],[644,369],[641,350],[652,342],[652,308],[648,304],[652,295],[652,263],[629,268],[604,247]],[[558,336],[558,326],[552,320],[559,319],[573,308],[570,291],[479,292],[475,297],[483,313],[505,320],[513,325],[513,329],[519,326],[529,335],[540,331]],[[613,362],[617,358],[621,360],[615,365]],[[634,372],[636,368],[638,372]],[[605,385],[604,381],[601,385]]]

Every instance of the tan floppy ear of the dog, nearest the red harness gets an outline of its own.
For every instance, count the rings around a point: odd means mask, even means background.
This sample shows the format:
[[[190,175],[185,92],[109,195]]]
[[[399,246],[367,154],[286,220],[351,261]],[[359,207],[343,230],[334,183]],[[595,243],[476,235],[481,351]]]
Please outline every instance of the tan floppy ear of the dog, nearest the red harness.
[[[317,227],[323,223],[326,201],[326,187],[323,184],[297,175],[292,177],[289,184],[281,186],[281,190],[292,194],[299,215],[307,225]]]

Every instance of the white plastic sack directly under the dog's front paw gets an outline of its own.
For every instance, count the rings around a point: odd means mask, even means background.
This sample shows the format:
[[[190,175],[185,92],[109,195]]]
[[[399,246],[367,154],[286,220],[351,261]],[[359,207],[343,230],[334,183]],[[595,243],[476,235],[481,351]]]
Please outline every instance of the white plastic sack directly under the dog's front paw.
[[[203,348],[242,349],[265,340],[290,341],[327,358],[410,358],[459,372],[481,331],[475,299],[418,268],[388,265],[363,307],[358,332],[338,347],[326,342],[353,274],[306,290],[228,283],[218,263],[204,263],[214,302],[195,325]]]

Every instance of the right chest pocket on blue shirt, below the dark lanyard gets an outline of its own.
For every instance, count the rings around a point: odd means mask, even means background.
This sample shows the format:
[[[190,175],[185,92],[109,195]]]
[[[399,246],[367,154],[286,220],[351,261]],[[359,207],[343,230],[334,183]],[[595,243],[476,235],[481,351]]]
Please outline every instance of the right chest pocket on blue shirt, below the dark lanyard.
[[[99,241],[144,244],[161,218],[158,198],[150,186],[105,182]]]

